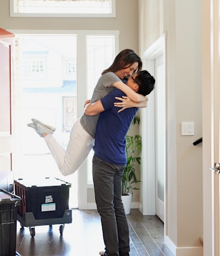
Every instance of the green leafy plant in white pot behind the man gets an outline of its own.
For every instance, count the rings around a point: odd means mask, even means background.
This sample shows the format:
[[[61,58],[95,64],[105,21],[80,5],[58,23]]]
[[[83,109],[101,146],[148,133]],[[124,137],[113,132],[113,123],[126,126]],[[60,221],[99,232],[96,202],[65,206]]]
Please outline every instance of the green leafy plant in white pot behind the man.
[[[139,116],[135,116],[133,125],[140,124]],[[130,214],[131,196],[133,190],[137,190],[135,184],[139,183],[140,180],[136,178],[136,166],[141,163],[141,150],[142,150],[142,139],[139,134],[134,136],[126,135],[126,147],[125,151],[127,154],[127,165],[124,169],[122,176],[122,200],[125,208],[125,213]]]

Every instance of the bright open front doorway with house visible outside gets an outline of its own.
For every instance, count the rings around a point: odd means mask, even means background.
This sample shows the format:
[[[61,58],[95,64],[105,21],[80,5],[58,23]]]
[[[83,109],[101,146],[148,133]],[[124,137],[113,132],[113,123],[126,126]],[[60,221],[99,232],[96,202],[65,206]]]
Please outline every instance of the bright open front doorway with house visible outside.
[[[27,127],[31,118],[52,125],[56,127],[54,137],[63,148],[67,146],[69,131],[78,111],[76,36],[30,33],[15,35],[15,179],[57,177],[65,180],[72,184],[69,205],[78,207],[78,173],[63,177],[45,141]],[[68,120],[68,116],[71,120]]]

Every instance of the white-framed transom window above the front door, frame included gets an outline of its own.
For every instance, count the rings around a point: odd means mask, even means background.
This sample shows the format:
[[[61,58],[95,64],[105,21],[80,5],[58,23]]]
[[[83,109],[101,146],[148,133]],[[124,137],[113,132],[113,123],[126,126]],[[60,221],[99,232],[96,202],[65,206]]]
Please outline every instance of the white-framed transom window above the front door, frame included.
[[[10,0],[11,17],[116,17],[116,0]]]

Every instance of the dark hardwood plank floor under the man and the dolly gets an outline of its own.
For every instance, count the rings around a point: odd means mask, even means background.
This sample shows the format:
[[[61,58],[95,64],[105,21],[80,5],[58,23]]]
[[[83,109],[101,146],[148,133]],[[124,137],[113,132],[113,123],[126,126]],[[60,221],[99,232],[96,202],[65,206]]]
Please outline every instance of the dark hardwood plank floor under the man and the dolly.
[[[130,228],[130,256],[173,256],[163,243],[163,222],[157,216],[142,216],[131,209],[127,215]],[[104,249],[100,216],[96,210],[73,210],[73,222],[36,226],[35,236],[29,228],[17,226],[17,252],[21,256],[98,256]]]

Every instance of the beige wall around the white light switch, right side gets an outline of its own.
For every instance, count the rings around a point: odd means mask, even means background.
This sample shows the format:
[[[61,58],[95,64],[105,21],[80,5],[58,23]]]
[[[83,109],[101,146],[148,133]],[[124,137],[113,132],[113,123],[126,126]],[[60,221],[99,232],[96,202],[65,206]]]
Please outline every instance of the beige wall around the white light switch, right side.
[[[139,0],[140,54],[167,34],[167,223],[176,255],[202,255],[201,1]],[[181,122],[195,135],[182,136]],[[172,245],[172,243],[174,243]]]

